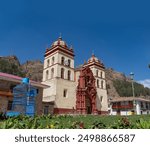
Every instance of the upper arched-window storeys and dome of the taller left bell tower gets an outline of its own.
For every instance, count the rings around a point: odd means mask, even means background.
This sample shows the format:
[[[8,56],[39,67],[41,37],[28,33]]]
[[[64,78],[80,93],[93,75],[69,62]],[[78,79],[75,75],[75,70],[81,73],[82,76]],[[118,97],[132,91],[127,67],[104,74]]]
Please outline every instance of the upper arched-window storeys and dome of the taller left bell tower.
[[[53,78],[74,80],[74,51],[61,37],[46,49],[44,57],[43,81]]]

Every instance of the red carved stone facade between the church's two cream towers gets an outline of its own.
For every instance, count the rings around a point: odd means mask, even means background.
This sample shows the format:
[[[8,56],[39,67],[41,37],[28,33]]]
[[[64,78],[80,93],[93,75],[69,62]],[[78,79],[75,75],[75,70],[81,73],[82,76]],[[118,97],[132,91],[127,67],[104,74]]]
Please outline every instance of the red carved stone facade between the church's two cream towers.
[[[83,67],[80,71],[76,92],[76,112],[79,114],[98,114],[96,94],[93,73],[88,66]]]

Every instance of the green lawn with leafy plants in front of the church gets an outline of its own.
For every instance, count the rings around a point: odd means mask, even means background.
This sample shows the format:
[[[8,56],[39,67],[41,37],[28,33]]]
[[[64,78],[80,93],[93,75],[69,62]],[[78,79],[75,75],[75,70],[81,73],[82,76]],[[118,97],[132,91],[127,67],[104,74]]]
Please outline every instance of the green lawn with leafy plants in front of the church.
[[[9,129],[150,129],[150,115],[94,116],[94,115],[43,115],[18,116],[0,121],[0,128]]]

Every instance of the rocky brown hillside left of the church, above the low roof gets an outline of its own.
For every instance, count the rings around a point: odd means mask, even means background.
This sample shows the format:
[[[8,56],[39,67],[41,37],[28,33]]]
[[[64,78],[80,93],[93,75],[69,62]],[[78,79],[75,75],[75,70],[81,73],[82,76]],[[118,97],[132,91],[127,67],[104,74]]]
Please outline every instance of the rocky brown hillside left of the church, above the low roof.
[[[41,82],[43,64],[39,60],[27,61],[24,64],[20,64],[16,56],[0,57],[0,72],[20,77],[29,77],[31,80]]]

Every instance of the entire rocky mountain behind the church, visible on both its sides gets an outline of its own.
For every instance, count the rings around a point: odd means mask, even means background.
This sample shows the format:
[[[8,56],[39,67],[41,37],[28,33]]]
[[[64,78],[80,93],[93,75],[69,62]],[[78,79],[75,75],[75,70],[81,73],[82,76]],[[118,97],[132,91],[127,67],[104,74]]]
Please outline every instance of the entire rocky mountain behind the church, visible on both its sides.
[[[16,56],[0,57],[0,72],[29,77],[31,80],[41,82],[43,76],[43,63],[40,60],[26,61],[20,64]],[[123,73],[112,68],[106,68],[106,85],[108,97],[132,96],[132,80]],[[150,96],[150,89],[134,81],[135,96]]]

